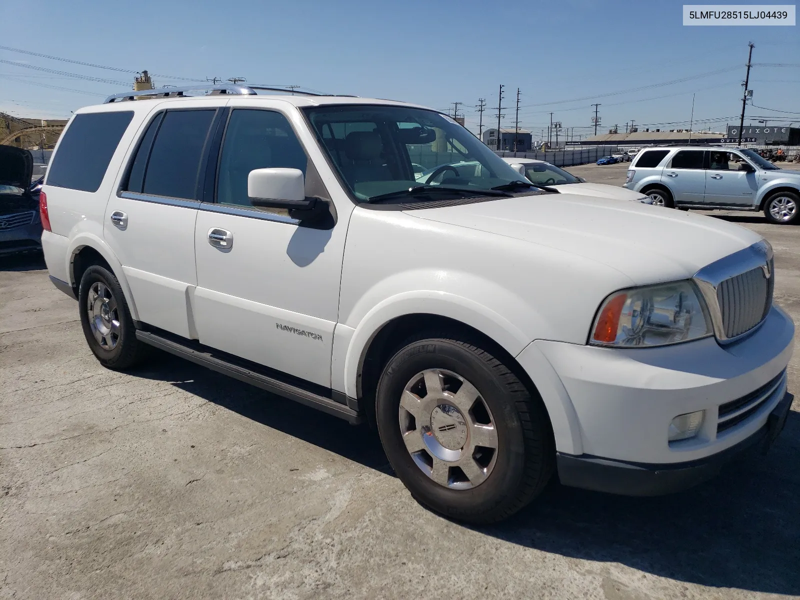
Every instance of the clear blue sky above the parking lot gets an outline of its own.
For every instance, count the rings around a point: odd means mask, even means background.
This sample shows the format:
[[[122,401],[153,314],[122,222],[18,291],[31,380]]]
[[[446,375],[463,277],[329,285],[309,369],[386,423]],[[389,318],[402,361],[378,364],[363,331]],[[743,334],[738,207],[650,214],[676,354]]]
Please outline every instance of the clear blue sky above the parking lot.
[[[463,102],[470,129],[477,129],[478,98],[486,98],[489,108],[484,123],[497,122],[491,109],[502,83],[503,104],[509,107],[503,126],[514,126],[519,87],[523,127],[546,126],[552,110],[554,120],[574,126],[576,134],[590,131],[593,102],[602,103],[603,131],[614,124],[624,130],[631,119],[642,126],[682,128],[678,122],[690,119],[692,93],[694,129],[722,130],[724,122],[706,119],[739,114],[752,41],[754,63],[790,65],[754,67],[754,104],[800,113],[797,26],[687,27],[682,2],[40,0],[36,14],[44,25],[34,19],[5,28],[0,45],[120,69],[199,79],[245,77],[439,110]],[[0,61],[20,63],[0,62],[0,110],[18,116],[69,116],[70,110],[125,90],[122,82],[133,77],[9,50],[0,50]],[[158,76],[154,81],[184,83]],[[658,85],[667,82],[674,83]],[[800,114],[754,107],[748,114],[800,124]]]

